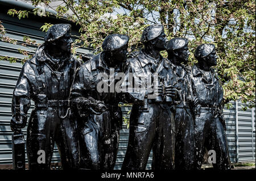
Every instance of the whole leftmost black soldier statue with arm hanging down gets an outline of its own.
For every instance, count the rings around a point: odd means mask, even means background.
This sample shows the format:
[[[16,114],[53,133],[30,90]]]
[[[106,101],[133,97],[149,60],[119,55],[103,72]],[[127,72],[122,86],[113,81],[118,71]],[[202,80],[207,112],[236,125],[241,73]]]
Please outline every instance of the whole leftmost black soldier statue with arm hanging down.
[[[71,25],[53,25],[44,41],[20,72],[13,92],[11,129],[16,131],[26,126],[27,111],[33,100],[35,108],[27,127],[29,169],[49,169],[55,142],[63,169],[76,169],[79,166],[77,125],[69,117],[68,98],[80,62],[71,54]],[[44,153],[45,162],[39,158]]]

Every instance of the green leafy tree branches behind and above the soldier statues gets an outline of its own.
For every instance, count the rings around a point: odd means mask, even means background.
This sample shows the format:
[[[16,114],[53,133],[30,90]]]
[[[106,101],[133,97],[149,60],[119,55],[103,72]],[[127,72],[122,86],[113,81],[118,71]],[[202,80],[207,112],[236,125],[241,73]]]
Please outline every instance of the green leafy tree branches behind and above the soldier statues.
[[[55,2],[55,7],[52,6]],[[189,38],[189,49],[195,50],[202,43],[217,47],[218,74],[224,87],[226,103],[241,99],[255,106],[255,1],[226,0],[32,0],[34,5],[54,9],[56,18],[65,18],[80,26],[80,36],[73,43],[73,53],[78,47],[101,50],[107,35],[121,33],[130,37],[129,50],[141,47],[140,37],[148,24],[163,24],[167,39]],[[9,15],[27,18],[33,11],[9,10]],[[40,15],[50,15],[49,12]],[[0,22],[1,23],[1,22]],[[1,40],[16,43],[5,36],[0,24]],[[42,29],[47,31],[51,24]],[[28,44],[36,44],[24,37]],[[25,44],[24,44],[25,45]],[[20,53],[27,53],[20,50]],[[166,56],[166,52],[163,52]],[[6,57],[2,57],[5,59]],[[10,61],[14,61],[10,59]],[[189,64],[196,60],[191,54]]]

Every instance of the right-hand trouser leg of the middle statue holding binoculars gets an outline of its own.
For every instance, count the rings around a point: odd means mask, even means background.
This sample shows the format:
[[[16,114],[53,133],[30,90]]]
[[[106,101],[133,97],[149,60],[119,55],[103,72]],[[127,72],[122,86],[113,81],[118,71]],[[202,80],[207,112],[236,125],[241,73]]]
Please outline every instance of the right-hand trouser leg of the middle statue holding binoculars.
[[[174,115],[170,110],[158,107],[158,125],[153,146],[153,170],[174,169],[175,134]]]

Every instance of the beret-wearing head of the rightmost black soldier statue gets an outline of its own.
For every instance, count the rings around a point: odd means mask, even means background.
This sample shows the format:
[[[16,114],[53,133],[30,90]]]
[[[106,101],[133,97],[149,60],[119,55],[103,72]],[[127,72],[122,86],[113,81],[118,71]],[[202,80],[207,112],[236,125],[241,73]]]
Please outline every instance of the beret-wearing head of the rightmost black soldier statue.
[[[218,56],[214,44],[206,43],[199,45],[194,52],[194,56],[199,64],[207,64],[208,66],[217,65]]]

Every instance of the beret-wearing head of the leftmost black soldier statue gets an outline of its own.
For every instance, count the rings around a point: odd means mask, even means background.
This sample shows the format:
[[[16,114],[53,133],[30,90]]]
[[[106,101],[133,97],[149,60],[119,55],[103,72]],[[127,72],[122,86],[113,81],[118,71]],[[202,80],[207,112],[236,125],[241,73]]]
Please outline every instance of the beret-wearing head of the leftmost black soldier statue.
[[[55,24],[49,28],[44,36],[44,41],[48,49],[56,49],[60,52],[71,52],[71,25]]]

